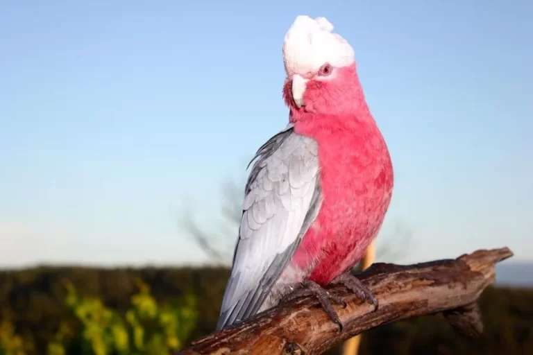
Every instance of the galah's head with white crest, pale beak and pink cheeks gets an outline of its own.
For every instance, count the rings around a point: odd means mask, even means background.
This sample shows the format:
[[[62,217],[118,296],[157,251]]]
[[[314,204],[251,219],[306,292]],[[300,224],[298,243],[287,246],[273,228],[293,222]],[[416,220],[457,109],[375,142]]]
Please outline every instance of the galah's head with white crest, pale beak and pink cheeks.
[[[344,114],[362,99],[354,51],[332,31],[324,17],[298,16],[285,35],[283,96],[293,116]]]

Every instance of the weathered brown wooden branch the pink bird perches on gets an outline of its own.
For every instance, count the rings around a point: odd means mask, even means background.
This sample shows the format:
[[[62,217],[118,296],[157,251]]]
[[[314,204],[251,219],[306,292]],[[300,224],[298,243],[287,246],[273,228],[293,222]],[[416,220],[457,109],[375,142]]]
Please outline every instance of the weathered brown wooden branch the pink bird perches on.
[[[462,334],[478,336],[482,323],[477,299],[494,281],[496,263],[512,255],[502,248],[410,266],[375,263],[358,277],[378,297],[378,310],[361,304],[344,286],[330,288],[348,304],[335,308],[342,332],[312,297],[305,297],[197,340],[178,354],[321,354],[380,324],[439,312]]]

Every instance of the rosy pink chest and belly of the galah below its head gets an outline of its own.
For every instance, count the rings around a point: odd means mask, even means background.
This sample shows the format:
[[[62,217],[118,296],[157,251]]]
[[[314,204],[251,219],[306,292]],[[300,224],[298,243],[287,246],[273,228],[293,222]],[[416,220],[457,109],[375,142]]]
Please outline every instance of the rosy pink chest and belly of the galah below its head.
[[[323,202],[292,263],[319,284],[362,258],[391,200],[393,170],[380,131],[373,120],[350,123],[307,134],[319,142]]]

